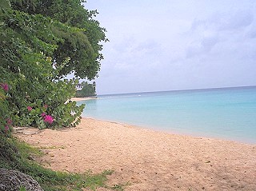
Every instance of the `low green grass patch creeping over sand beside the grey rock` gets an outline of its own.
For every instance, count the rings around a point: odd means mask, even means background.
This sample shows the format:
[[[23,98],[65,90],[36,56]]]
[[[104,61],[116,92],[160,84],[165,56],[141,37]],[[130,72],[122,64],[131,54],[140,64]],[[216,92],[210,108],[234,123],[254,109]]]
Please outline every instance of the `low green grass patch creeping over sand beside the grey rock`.
[[[34,161],[42,152],[14,137],[0,137],[0,168],[15,169],[29,174],[45,191],[79,191],[82,188],[97,190],[103,187],[112,190],[123,190],[123,185],[106,185],[107,176],[112,170],[94,174],[66,173],[46,169]]]

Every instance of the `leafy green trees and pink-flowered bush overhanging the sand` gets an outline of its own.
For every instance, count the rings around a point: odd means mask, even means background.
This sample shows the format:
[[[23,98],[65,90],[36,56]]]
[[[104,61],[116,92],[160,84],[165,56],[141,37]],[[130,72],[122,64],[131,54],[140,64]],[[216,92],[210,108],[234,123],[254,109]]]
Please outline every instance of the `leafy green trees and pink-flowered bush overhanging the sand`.
[[[66,1],[56,2],[64,7]],[[74,95],[78,81],[62,77],[72,71],[81,78],[97,75],[101,46],[95,42],[99,38],[90,40],[94,36],[87,37],[86,29],[81,28],[82,24],[86,26],[88,18],[84,15],[89,13],[81,10],[81,5],[72,6],[67,12],[70,19],[65,22],[62,13],[58,15],[53,9],[49,9],[49,15],[40,14],[40,3],[48,3],[49,8],[55,5],[55,1],[12,0],[12,9],[7,2],[0,10],[0,83],[10,86],[3,102],[8,102],[14,125],[76,125],[83,105],[66,101]],[[75,7],[80,7],[79,11],[72,14]],[[71,19],[74,15],[82,18],[77,24],[78,19]]]

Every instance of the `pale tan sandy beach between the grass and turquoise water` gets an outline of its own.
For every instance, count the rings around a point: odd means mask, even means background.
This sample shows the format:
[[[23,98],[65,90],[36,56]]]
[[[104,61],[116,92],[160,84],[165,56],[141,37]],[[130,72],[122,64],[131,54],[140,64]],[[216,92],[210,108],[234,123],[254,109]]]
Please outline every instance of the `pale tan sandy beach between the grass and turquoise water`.
[[[73,129],[33,132],[18,137],[43,148],[44,165],[78,173],[114,169],[108,184],[129,182],[127,191],[256,190],[256,145],[90,118]]]

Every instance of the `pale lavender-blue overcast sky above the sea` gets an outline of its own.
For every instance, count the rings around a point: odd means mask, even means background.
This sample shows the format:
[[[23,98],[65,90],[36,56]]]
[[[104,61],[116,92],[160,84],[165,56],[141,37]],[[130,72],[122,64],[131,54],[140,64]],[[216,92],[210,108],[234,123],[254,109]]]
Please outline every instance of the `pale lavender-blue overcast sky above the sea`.
[[[106,28],[98,94],[256,85],[256,1],[87,0]]]

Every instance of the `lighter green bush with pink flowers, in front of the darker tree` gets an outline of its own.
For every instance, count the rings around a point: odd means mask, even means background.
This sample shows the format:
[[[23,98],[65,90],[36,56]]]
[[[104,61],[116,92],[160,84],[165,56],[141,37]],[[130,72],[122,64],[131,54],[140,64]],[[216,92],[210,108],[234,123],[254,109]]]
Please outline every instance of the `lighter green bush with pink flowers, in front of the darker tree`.
[[[63,33],[81,30],[18,10],[1,9],[0,21],[0,74],[12,87],[5,101],[9,103],[14,125],[40,129],[77,125],[84,105],[66,102],[74,96],[77,81],[58,79],[60,70],[53,66],[51,56],[62,42],[54,34],[55,29]],[[42,113],[54,121],[47,123]]]

